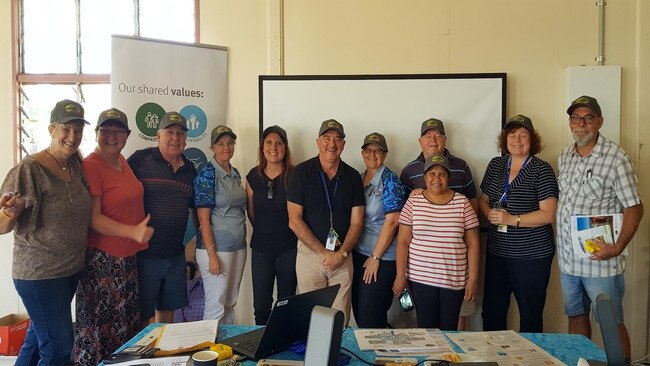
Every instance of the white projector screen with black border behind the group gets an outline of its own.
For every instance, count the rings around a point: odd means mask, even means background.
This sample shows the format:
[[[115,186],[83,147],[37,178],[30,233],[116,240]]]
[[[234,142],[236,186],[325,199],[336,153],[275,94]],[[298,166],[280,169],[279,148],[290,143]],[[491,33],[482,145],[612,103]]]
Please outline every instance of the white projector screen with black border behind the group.
[[[294,164],[318,154],[322,121],[345,129],[342,159],[363,172],[366,135],[386,137],[385,165],[397,175],[421,152],[421,123],[444,122],[447,148],[467,161],[479,189],[496,138],[505,123],[506,74],[260,76],[260,135],[279,125],[287,131]]]

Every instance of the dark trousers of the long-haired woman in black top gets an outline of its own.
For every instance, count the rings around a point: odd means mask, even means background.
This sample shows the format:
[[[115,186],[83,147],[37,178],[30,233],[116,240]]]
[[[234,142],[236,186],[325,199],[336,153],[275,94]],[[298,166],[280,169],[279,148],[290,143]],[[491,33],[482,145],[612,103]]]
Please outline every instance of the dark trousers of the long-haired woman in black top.
[[[253,309],[255,324],[265,325],[273,306],[273,286],[277,279],[277,299],[296,294],[297,247],[276,255],[251,251],[251,275],[253,278]]]

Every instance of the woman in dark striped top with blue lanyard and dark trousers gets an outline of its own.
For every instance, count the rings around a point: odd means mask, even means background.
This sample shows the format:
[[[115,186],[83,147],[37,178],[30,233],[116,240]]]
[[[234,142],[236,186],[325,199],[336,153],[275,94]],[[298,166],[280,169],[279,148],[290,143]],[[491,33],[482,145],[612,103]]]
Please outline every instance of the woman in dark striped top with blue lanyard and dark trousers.
[[[503,127],[499,149],[490,161],[479,199],[490,221],[485,264],[483,329],[507,329],[514,293],[520,332],[543,332],[546,287],[555,254],[551,223],[558,188],[551,166],[535,155],[541,139],[530,118],[517,115]]]

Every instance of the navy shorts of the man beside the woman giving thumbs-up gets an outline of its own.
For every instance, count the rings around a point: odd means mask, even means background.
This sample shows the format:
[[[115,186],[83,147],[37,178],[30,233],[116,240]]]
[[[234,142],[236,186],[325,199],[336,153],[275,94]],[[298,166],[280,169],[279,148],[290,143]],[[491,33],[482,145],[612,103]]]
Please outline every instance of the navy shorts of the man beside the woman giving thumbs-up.
[[[140,317],[146,321],[154,310],[176,310],[187,306],[185,254],[173,258],[138,256]]]

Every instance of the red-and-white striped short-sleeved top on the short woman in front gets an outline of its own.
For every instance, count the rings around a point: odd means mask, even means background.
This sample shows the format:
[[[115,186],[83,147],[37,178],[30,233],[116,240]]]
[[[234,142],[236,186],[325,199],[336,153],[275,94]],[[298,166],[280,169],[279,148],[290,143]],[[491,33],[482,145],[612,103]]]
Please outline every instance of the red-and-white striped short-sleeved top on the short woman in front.
[[[406,278],[452,290],[467,283],[466,230],[479,225],[467,197],[454,193],[446,204],[435,204],[424,194],[409,197],[399,223],[411,226]]]

